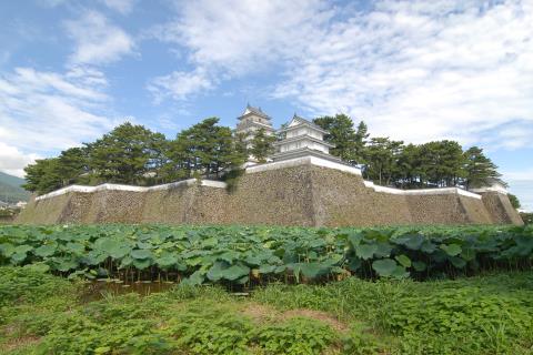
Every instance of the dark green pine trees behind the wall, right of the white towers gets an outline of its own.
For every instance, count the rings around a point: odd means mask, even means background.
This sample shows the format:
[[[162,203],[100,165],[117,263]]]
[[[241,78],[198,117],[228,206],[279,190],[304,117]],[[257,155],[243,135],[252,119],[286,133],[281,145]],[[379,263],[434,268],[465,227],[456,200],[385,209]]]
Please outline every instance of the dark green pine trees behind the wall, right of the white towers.
[[[386,136],[370,138],[366,124],[356,128],[345,114],[313,121],[335,144],[330,152],[362,168],[363,176],[380,185],[402,189],[461,186],[475,189],[501,181],[497,166],[479,146],[463,151],[454,141],[404,144]]]

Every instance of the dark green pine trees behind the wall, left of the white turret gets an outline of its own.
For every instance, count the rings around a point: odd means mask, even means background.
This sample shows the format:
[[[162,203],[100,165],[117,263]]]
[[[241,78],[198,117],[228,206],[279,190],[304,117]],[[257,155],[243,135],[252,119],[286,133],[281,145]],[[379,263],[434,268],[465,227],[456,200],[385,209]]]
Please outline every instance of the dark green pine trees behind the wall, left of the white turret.
[[[92,143],[28,165],[24,189],[47,193],[73,183],[153,185],[190,178],[224,179],[253,153],[271,153],[272,138],[233,134],[210,118],[168,140],[142,125],[123,123]]]

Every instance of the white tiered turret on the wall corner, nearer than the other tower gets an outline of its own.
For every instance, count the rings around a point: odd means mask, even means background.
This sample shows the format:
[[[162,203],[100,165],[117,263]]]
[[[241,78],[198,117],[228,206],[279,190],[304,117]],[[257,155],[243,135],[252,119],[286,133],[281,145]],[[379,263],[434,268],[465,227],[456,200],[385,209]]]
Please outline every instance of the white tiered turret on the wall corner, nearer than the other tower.
[[[339,158],[330,155],[330,148],[334,148],[334,145],[324,142],[324,134],[328,134],[328,131],[296,114],[278,133],[283,134],[284,138],[274,143],[276,153],[272,156],[273,161],[309,155],[335,162],[341,161]]]

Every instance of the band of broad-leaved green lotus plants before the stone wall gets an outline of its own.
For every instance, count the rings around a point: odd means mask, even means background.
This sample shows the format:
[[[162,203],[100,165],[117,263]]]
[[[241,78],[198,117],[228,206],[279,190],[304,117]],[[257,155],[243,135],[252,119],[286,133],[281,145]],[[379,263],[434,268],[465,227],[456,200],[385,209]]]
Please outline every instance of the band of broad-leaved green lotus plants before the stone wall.
[[[0,265],[69,277],[255,285],[531,268],[533,227],[2,226]]]

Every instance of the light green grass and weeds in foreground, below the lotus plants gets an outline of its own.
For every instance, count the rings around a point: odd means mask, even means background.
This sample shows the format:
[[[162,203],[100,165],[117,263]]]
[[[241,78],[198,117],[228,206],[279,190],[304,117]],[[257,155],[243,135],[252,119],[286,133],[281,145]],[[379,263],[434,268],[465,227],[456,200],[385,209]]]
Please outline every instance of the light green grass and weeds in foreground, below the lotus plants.
[[[7,354],[532,354],[532,273],[88,302],[66,280],[0,267]]]

